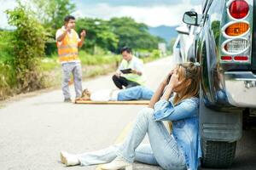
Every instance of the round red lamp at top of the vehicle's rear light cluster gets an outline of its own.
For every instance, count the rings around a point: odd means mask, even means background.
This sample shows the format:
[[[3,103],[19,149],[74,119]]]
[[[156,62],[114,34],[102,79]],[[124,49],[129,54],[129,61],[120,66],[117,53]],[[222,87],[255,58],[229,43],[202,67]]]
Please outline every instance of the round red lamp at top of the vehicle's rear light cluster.
[[[249,5],[244,0],[235,0],[230,3],[230,15],[235,19],[243,19],[249,13]]]

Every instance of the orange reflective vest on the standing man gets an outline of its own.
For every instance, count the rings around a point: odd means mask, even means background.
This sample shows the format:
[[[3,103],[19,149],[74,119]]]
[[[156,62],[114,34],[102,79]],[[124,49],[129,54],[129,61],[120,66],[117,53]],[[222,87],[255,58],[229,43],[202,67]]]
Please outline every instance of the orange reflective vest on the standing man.
[[[66,35],[61,43],[57,42],[59,59],[62,62],[79,60],[79,40],[76,31],[71,31],[71,35]]]

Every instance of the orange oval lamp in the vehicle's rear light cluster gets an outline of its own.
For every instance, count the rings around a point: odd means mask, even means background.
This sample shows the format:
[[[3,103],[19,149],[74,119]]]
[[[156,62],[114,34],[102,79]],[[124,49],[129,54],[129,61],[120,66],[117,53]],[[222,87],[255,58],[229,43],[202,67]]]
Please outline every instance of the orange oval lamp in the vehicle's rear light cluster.
[[[225,29],[225,34],[231,37],[241,36],[249,31],[250,26],[245,22],[231,24]]]

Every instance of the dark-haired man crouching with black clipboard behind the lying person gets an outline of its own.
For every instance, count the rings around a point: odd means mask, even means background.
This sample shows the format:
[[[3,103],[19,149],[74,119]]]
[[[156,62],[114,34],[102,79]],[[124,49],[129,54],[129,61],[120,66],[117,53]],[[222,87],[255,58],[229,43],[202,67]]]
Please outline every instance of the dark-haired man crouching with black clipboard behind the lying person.
[[[113,82],[119,89],[131,88],[143,85],[145,82],[143,75],[143,61],[138,59],[131,53],[131,48],[125,47],[121,49],[123,60],[119,65]]]

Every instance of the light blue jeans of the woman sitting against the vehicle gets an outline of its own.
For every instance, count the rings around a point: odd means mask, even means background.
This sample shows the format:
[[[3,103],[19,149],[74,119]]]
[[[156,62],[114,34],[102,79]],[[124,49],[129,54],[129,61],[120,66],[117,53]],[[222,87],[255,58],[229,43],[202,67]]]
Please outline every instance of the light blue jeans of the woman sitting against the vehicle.
[[[153,114],[154,110],[149,108],[140,111],[123,144],[78,155],[81,165],[108,163],[116,156],[121,156],[129,162],[140,161],[160,165],[164,169],[186,169],[183,151],[168,133],[163,122],[154,121]],[[150,144],[141,144],[146,133]]]

